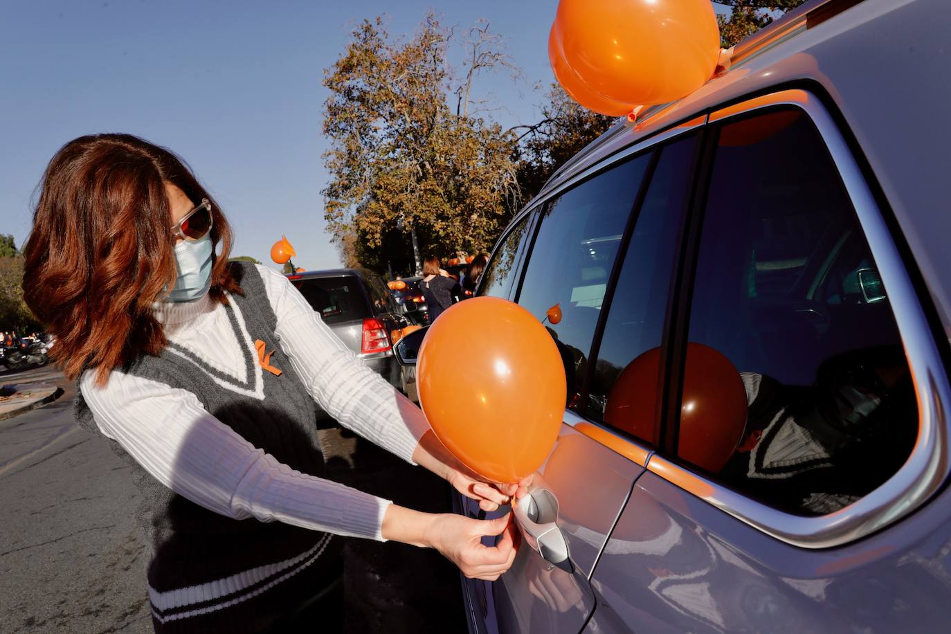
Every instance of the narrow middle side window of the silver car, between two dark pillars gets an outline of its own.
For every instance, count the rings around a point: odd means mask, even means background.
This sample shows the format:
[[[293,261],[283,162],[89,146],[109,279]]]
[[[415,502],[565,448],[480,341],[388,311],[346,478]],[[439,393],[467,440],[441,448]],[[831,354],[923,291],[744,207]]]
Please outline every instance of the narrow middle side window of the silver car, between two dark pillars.
[[[651,444],[659,350],[695,144],[691,136],[661,150],[611,298],[589,389],[586,415]]]

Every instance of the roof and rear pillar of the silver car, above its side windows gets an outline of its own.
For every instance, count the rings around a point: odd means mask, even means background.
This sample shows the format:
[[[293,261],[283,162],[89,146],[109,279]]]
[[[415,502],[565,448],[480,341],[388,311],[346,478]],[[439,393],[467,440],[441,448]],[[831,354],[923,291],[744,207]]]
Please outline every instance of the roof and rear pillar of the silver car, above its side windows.
[[[535,200],[612,154],[722,106],[805,87],[854,141],[951,334],[951,63],[946,0],[812,0],[732,48],[728,68],[671,104],[621,121],[556,170]],[[516,221],[520,215],[516,217]],[[886,218],[886,220],[888,220]]]

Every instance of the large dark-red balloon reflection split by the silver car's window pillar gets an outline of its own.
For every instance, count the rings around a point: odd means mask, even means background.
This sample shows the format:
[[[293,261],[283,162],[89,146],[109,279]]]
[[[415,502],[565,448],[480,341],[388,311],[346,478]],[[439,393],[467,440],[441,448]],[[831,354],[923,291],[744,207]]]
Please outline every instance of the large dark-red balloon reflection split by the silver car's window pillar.
[[[654,441],[654,405],[660,348],[639,355],[621,372],[608,395],[604,419],[612,427]],[[700,343],[687,344],[678,455],[717,473],[743,438],[747,390],[729,359]]]

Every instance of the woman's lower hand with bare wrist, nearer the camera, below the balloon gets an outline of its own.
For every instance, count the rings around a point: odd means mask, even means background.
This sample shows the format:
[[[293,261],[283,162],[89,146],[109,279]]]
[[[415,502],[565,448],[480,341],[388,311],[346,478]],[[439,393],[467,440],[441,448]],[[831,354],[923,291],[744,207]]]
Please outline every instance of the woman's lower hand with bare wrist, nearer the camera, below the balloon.
[[[475,520],[455,513],[421,513],[391,504],[380,534],[404,544],[436,548],[470,579],[495,581],[512,566],[516,543],[512,513],[494,520]],[[482,544],[486,535],[501,535],[498,544]]]

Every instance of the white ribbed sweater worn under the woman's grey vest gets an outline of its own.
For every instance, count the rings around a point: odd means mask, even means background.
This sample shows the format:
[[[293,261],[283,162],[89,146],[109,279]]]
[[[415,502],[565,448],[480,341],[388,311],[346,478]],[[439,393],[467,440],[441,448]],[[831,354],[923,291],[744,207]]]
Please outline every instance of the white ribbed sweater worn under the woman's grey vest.
[[[429,429],[422,412],[364,366],[286,278],[258,270],[278,317],[281,350],[306,390],[341,425],[412,462]],[[164,303],[156,317],[171,341],[241,382],[247,378],[240,346],[257,356],[254,343],[236,338],[221,304],[207,297]],[[119,371],[105,387],[86,372],[80,389],[107,437],[156,480],[205,509],[382,540],[389,500],[292,470],[206,412],[194,394]]]

